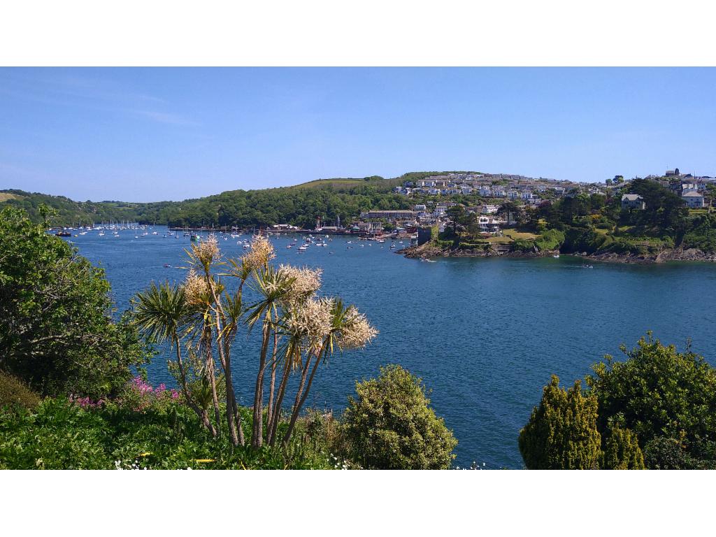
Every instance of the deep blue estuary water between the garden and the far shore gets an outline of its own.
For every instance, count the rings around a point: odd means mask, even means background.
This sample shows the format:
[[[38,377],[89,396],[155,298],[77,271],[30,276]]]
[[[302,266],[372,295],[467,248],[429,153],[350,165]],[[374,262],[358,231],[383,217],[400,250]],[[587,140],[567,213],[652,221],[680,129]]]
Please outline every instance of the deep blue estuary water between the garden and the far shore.
[[[180,281],[186,237],[89,232],[71,240],[106,269],[118,309],[150,281]],[[246,238],[243,236],[242,238]],[[425,263],[396,255],[386,242],[336,237],[329,248],[305,253],[276,238],[276,262],[324,271],[323,294],[339,295],[364,311],[380,334],[361,352],[335,356],[314,383],[311,404],[342,409],[355,382],[379,366],[401,364],[432,389],[437,415],[459,444],[455,463],[522,468],[517,436],[551,374],[563,384],[584,377],[604,354],[621,356],[647,330],[663,342],[692,349],[714,364],[716,264],[632,266],[599,263],[582,269],[578,258],[439,259]],[[236,239],[220,241],[240,256]],[[369,246],[371,245],[371,246]],[[347,246],[353,246],[347,249]],[[400,246],[400,245],[398,245]],[[331,254],[331,252],[333,252]],[[256,336],[238,337],[237,386],[244,404],[256,377]],[[165,357],[149,367],[153,382],[170,382]]]

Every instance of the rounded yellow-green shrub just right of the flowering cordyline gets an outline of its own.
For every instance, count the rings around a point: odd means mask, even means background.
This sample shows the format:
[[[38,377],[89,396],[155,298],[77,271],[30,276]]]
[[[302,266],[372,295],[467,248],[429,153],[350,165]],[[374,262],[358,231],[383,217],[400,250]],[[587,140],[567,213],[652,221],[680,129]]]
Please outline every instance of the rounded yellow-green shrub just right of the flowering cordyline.
[[[458,441],[420,379],[398,365],[382,367],[377,379],[357,382],[356,392],[342,417],[352,460],[364,468],[450,468]]]

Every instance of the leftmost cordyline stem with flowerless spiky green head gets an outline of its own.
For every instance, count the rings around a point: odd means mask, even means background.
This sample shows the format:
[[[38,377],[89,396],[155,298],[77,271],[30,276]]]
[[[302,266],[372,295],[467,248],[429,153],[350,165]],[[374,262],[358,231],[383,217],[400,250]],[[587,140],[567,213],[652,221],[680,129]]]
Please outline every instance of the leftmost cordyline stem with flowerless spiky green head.
[[[152,282],[147,291],[137,293],[132,299],[132,304],[135,323],[145,337],[158,343],[168,341],[175,349],[184,400],[200,417],[209,432],[216,436],[216,428],[211,424],[204,410],[205,407],[194,400],[187,386],[187,371],[181,354],[180,332],[186,331],[190,326],[196,310],[186,300],[184,290],[180,286],[170,285],[168,281],[159,285]]]

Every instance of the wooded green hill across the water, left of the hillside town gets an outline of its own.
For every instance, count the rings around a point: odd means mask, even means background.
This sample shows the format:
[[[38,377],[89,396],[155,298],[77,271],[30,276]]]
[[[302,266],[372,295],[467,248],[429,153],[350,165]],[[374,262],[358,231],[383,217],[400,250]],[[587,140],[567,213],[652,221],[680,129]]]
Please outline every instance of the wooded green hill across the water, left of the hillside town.
[[[74,201],[64,196],[0,190],[0,208],[24,208],[40,221],[39,205],[54,208],[54,226],[77,226],[106,221],[135,221],[170,226],[272,226],[290,223],[314,226],[316,218],[331,225],[340,218],[349,223],[361,211],[407,209],[414,201],[392,192],[408,180],[450,172],[410,172],[397,178],[379,175],[365,178],[319,179],[299,185],[263,190],[228,190],[183,201],[127,203],[122,201]],[[468,172],[455,172],[468,173]]]

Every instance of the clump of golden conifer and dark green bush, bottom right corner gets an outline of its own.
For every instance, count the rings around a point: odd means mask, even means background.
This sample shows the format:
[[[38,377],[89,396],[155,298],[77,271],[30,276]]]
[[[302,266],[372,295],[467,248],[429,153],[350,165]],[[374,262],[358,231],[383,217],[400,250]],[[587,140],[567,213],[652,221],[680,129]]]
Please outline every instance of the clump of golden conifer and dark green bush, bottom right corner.
[[[594,437],[584,435],[593,427],[601,468],[716,468],[716,369],[651,333],[635,349],[621,350],[627,360],[606,356],[596,364],[585,394],[578,396],[576,387],[564,392],[552,378],[520,434],[527,467],[584,468],[571,454],[594,453]],[[569,422],[577,415],[570,396],[594,402],[594,412],[583,412],[576,425]]]

